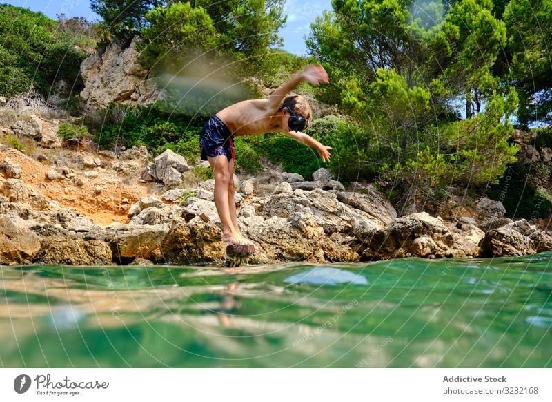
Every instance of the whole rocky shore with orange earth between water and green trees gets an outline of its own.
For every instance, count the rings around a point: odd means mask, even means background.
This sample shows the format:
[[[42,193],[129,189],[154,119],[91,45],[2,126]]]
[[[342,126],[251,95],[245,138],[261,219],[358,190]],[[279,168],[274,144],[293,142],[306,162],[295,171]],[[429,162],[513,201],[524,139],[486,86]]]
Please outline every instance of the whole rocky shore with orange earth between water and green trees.
[[[0,148],[0,263],[4,265],[217,265],[224,242],[213,180],[183,187],[192,164],[145,148],[99,153],[62,148],[55,124],[16,122],[38,154]],[[40,154],[56,149],[54,156]],[[313,181],[266,169],[235,178],[238,220],[257,246],[253,264],[368,261],[404,257],[522,256],[552,250],[552,236],[504,218],[480,198],[472,216],[397,216],[371,184],[345,189],[326,169]],[[57,186],[57,187],[56,187]],[[54,191],[57,188],[58,191]],[[80,194],[78,197],[70,195]],[[112,219],[106,219],[106,213]]]

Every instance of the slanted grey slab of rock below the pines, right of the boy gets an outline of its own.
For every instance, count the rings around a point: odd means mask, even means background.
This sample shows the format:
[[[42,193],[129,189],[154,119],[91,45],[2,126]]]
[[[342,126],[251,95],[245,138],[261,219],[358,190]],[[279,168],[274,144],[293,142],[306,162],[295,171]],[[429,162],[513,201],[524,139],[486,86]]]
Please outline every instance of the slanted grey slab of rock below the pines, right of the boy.
[[[373,186],[366,187],[363,193],[337,193],[337,200],[368,213],[369,216],[381,220],[384,224],[390,224],[393,219],[397,218],[397,211],[391,202]]]

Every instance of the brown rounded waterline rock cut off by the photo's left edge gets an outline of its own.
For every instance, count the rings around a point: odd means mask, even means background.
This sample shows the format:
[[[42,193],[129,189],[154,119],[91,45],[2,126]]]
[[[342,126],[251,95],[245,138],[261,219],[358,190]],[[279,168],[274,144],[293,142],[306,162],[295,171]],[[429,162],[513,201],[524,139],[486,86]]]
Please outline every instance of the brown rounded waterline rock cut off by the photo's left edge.
[[[23,264],[40,250],[40,238],[21,224],[21,218],[0,215],[0,258]]]

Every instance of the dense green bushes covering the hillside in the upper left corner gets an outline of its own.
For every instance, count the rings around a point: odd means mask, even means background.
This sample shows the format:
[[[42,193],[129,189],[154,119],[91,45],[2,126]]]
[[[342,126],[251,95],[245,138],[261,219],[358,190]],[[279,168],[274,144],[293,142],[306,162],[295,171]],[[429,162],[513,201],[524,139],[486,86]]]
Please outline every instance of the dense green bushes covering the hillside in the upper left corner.
[[[81,85],[86,53],[75,46],[75,35],[57,27],[41,12],[0,4],[0,95],[32,89],[48,94],[60,79]]]

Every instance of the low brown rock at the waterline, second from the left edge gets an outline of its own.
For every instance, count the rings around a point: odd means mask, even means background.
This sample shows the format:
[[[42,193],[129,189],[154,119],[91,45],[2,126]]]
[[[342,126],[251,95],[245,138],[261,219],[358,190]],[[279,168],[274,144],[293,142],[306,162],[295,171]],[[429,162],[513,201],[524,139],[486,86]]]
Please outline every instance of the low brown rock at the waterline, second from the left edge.
[[[82,238],[43,238],[35,262],[50,265],[112,265],[112,251],[106,242]]]

